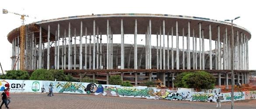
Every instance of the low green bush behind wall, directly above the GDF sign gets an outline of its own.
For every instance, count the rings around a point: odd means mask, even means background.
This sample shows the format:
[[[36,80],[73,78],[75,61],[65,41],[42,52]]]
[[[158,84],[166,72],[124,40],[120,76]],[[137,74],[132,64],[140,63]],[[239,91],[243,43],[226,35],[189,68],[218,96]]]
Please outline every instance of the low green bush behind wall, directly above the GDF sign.
[[[0,75],[1,79],[15,79],[15,80],[28,80],[29,75],[27,71],[9,70],[6,75]]]

